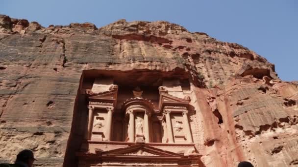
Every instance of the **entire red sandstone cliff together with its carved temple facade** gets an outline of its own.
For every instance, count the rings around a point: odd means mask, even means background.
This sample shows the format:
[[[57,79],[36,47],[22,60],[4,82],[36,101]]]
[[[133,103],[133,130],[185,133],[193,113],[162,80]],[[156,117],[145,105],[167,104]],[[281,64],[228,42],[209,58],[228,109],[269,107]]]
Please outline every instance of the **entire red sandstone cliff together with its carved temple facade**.
[[[298,166],[298,83],[166,21],[42,27],[0,15],[0,163]]]

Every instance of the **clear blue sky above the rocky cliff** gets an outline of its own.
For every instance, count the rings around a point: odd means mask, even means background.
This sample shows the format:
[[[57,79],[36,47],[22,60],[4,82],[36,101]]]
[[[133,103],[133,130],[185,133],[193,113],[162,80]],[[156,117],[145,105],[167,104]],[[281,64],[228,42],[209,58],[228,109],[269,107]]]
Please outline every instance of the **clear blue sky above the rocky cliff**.
[[[50,24],[170,21],[242,44],[298,81],[298,0],[1,0],[0,14]]]

